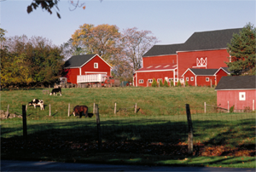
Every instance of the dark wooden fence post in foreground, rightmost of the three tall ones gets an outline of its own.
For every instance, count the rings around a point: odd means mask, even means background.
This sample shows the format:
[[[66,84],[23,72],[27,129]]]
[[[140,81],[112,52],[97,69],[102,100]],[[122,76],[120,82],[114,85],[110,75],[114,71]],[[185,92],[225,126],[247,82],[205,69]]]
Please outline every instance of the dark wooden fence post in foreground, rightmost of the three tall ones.
[[[193,126],[192,126],[192,119],[189,104],[186,104],[186,112],[187,112],[187,119],[188,119],[188,126],[189,126],[189,136],[188,136],[188,149],[189,155],[193,155]]]

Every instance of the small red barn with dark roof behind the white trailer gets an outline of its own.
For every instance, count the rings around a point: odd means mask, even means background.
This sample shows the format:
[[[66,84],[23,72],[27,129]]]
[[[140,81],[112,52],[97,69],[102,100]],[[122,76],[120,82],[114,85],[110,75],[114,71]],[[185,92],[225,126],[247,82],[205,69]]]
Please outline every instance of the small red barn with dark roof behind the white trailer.
[[[98,54],[73,55],[65,62],[63,77],[67,83],[76,83],[78,75],[107,74],[111,75],[112,67]]]

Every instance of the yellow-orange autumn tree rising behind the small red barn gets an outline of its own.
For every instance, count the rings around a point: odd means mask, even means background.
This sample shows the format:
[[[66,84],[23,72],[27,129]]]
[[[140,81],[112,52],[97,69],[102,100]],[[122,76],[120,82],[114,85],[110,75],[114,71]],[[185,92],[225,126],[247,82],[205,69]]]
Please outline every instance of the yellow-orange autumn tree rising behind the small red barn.
[[[72,35],[74,46],[81,47],[86,54],[99,54],[108,63],[113,60],[113,54],[120,51],[119,37],[119,28],[108,24],[84,24]]]

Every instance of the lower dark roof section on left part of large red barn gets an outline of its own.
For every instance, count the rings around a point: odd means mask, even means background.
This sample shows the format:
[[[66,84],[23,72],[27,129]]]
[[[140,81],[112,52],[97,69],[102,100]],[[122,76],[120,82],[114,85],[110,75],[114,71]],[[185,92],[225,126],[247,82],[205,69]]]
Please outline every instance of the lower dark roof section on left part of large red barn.
[[[143,54],[143,57],[155,56],[155,55],[166,55],[166,54],[176,54],[177,49],[183,43],[169,44],[169,45],[154,45],[147,53]]]

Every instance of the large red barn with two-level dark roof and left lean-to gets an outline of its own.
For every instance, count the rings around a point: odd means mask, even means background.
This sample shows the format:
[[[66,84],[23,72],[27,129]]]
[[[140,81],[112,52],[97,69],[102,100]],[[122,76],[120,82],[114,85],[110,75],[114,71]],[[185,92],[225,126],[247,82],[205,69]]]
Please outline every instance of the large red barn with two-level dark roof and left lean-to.
[[[183,83],[183,73],[189,68],[219,69],[227,67],[225,62],[230,61],[230,54],[226,49],[227,43],[230,43],[234,33],[240,31],[241,29],[226,29],[195,32],[185,43],[154,45],[143,55],[143,68],[135,72],[134,85],[147,86],[147,81],[151,81],[153,77],[162,81],[168,78],[169,82],[173,79],[174,84],[178,80]],[[160,68],[160,66],[167,65],[170,67],[168,70]],[[149,70],[150,68],[151,70]],[[223,75],[225,74],[223,73]],[[216,78],[217,83],[218,80],[219,78]]]

